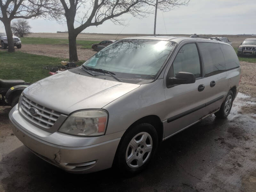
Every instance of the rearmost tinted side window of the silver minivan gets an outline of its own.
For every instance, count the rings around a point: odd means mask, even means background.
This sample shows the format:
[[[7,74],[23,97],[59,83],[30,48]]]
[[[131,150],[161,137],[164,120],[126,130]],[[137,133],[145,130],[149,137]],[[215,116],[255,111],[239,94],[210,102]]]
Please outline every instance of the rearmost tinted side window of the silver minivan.
[[[224,54],[227,70],[239,67],[240,63],[235,50],[231,46],[225,44],[220,44],[220,47]]]

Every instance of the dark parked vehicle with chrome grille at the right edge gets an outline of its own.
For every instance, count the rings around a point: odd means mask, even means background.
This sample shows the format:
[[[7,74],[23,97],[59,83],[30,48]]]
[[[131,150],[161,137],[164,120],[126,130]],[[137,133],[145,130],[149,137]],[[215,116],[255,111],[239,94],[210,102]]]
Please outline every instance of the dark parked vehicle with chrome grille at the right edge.
[[[237,55],[256,56],[256,38],[245,39],[237,49]]]

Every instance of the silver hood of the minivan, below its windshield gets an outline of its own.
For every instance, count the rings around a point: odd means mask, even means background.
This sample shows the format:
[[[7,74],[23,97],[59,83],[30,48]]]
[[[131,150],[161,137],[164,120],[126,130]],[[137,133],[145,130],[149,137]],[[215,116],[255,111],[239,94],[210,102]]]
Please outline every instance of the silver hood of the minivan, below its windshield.
[[[78,75],[67,70],[37,81],[23,94],[44,107],[70,114],[79,109],[102,108],[139,86]]]

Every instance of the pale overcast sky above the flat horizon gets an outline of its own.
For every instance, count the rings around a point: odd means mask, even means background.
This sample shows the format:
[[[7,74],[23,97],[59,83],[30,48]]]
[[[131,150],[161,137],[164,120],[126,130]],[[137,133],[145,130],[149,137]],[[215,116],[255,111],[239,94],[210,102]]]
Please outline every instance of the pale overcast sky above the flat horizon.
[[[131,15],[125,15],[128,21]],[[36,19],[28,20],[32,32],[66,31],[66,24]],[[166,30],[164,27],[164,21]],[[124,30],[123,30],[124,29]],[[122,31],[123,30],[123,31]],[[0,31],[4,25],[0,21]],[[129,26],[118,26],[106,21],[98,27],[89,27],[87,33],[138,33],[153,34],[154,15],[132,18]],[[256,34],[256,0],[190,0],[188,6],[177,7],[170,12],[158,11],[157,34]]]

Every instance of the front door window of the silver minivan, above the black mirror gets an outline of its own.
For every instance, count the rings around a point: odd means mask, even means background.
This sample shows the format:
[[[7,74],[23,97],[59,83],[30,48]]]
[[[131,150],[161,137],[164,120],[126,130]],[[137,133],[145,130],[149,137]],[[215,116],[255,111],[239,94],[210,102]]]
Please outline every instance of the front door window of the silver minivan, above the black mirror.
[[[181,71],[193,73],[196,78],[200,77],[201,68],[196,44],[191,43],[181,47],[172,66],[174,77]]]

